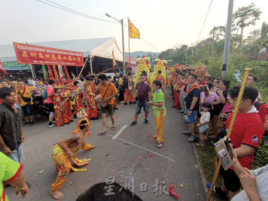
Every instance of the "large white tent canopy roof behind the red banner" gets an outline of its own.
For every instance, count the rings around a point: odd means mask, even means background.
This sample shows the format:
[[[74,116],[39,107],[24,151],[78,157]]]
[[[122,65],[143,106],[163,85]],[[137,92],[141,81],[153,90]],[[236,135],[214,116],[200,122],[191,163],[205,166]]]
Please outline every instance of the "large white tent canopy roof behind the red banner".
[[[113,58],[112,51],[114,50],[114,58],[117,61],[123,61],[122,52],[119,49],[115,38],[60,40],[28,44],[82,52],[83,57],[91,55],[91,57],[98,56],[108,59]],[[0,61],[17,61],[13,44],[0,45]]]

